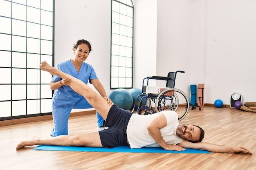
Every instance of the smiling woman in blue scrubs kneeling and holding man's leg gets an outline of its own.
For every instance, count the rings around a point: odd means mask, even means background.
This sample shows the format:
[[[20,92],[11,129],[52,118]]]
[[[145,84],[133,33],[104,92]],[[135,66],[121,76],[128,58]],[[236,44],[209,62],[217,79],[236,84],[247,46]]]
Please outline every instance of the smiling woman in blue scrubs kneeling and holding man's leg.
[[[99,94],[107,101],[107,103],[109,105],[113,105],[111,99],[107,97],[106,91],[99,81],[93,67],[84,62],[91,51],[90,42],[87,40],[78,40],[76,44],[73,45],[73,51],[74,59],[61,62],[56,68],[80,79],[85,84],[89,81],[93,84]],[[70,83],[70,79],[62,79],[56,75],[52,77],[52,82],[50,83],[50,88],[54,90],[54,95],[52,97],[52,117],[54,121],[54,128],[51,133],[53,137],[68,135],[67,122],[72,109],[92,108],[83,96],[70,88]],[[98,127],[102,127],[104,120],[99,113],[96,114]],[[98,128],[98,130],[100,130],[100,128]]]

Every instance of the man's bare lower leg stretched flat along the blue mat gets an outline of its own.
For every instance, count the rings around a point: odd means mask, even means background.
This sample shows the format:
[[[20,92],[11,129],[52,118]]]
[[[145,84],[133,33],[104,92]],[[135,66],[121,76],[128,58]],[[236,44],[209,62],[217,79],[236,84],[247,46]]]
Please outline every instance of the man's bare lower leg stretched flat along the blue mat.
[[[16,150],[33,145],[103,147],[101,145],[99,132],[92,132],[82,135],[60,135],[49,139],[31,139],[29,141],[22,141],[17,145]]]

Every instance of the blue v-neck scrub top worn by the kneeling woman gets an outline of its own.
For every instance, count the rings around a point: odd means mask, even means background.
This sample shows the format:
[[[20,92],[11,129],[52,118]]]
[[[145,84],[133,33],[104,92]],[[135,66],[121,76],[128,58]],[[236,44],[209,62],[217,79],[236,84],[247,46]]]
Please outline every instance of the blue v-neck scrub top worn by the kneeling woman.
[[[92,79],[98,79],[94,71],[94,68],[92,68],[92,65],[87,64],[85,62],[82,63],[82,66],[79,72],[77,72],[71,60],[67,60],[65,62],[59,63],[56,68],[63,71],[64,73],[67,73],[69,75],[72,75],[73,77],[76,77],[77,79],[80,79],[85,84],[87,84],[88,81],[90,82],[90,84],[92,84],[91,82]],[[61,77],[53,75],[52,82],[58,82],[61,79],[62,79]],[[53,98],[58,97],[60,94],[65,97],[72,97],[72,99],[75,99],[75,98],[79,99],[82,97],[81,95],[73,91],[73,89],[70,86],[61,86],[60,88],[56,89],[54,91]]]

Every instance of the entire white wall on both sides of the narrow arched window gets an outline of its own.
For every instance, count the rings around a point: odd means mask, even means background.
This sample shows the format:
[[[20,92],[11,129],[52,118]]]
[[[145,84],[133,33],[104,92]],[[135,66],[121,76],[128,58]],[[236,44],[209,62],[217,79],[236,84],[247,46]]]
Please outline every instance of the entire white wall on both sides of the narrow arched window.
[[[242,93],[255,102],[256,1],[133,0],[134,87],[151,75],[178,74],[176,88],[190,98],[205,84],[205,103]],[[111,0],[55,0],[55,65],[73,57],[72,44],[87,39],[92,64],[110,95]]]

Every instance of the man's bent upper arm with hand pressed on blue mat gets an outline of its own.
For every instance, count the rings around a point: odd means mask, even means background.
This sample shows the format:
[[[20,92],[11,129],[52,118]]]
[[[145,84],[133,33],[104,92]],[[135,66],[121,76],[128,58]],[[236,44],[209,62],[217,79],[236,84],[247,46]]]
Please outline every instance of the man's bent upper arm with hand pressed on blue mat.
[[[177,151],[185,150],[181,146],[166,144],[160,132],[160,129],[164,128],[166,125],[167,125],[166,117],[163,114],[160,114],[155,119],[153,119],[153,121],[151,121],[150,124],[148,125],[149,135],[151,135],[155,139],[157,144],[159,144],[165,150],[177,150]]]

